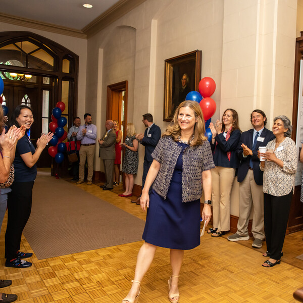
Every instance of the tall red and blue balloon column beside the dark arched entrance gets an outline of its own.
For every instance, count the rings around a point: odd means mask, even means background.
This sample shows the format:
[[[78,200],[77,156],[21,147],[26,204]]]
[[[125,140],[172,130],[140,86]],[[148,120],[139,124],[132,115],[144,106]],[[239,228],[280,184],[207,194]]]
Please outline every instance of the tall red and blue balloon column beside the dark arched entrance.
[[[56,163],[60,164],[64,160],[64,153],[66,152],[66,144],[63,141],[67,138],[67,132],[64,126],[67,124],[67,119],[61,116],[65,110],[65,104],[58,102],[52,111],[52,122],[48,127],[54,133],[54,137],[49,143],[52,146],[48,147],[49,156],[55,158]]]

